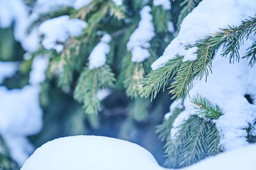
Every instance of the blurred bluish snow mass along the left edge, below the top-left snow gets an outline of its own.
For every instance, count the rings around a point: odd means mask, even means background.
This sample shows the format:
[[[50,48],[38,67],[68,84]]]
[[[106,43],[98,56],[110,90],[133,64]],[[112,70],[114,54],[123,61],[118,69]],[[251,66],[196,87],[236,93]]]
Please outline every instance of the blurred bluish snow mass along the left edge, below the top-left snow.
[[[34,148],[26,136],[36,134],[42,129],[42,109],[40,108],[40,86],[48,58],[33,60],[29,77],[31,85],[22,89],[8,90],[0,86],[0,134],[10,149],[12,158],[21,166]],[[17,71],[17,62],[1,62],[1,78],[9,77]],[[15,107],[13,107],[15,103]]]

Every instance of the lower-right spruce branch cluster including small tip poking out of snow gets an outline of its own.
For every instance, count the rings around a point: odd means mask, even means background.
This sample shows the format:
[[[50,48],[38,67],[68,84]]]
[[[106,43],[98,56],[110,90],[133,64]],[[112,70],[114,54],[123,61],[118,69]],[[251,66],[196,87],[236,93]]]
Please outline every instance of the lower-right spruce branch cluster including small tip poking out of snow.
[[[184,111],[182,105],[173,108],[170,117],[157,127],[159,138],[166,141],[166,166],[184,167],[220,152],[220,136],[211,119],[220,117],[221,109],[205,97],[196,96],[191,101],[197,110],[175,129],[173,122]],[[171,131],[171,135],[170,135]]]

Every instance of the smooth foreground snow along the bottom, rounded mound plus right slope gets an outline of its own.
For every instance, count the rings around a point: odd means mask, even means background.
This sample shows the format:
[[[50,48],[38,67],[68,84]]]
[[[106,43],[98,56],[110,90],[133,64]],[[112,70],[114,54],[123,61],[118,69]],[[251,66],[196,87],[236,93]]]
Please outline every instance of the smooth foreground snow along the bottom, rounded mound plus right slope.
[[[250,145],[220,153],[181,170],[254,170],[255,152],[256,145]],[[20,170],[31,169],[168,170],[159,166],[151,153],[141,146],[103,136],[69,136],[49,141],[37,148]]]

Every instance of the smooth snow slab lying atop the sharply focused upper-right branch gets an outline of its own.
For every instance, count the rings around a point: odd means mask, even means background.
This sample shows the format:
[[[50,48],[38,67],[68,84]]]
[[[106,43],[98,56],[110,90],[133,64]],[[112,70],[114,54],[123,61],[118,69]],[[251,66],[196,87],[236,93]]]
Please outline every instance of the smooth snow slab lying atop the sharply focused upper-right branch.
[[[244,10],[246,9],[246,10]],[[194,45],[198,39],[211,36],[211,33],[220,31],[228,25],[239,26],[242,20],[255,15],[256,3],[254,0],[208,0],[202,1],[180,25],[178,36],[164,50],[163,55],[152,64],[152,69],[158,69],[177,55],[184,55],[184,61],[195,60],[186,49]],[[186,56],[188,54],[188,56]]]

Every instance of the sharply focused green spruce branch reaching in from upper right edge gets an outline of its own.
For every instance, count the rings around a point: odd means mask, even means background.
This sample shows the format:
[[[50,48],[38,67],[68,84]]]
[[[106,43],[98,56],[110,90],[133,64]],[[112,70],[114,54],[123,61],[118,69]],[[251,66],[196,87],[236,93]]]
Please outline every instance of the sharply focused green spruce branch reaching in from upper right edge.
[[[221,55],[223,57],[229,57],[230,62],[240,59],[239,47],[243,45],[243,41],[246,41],[248,36],[255,34],[256,31],[256,18],[251,17],[248,20],[243,21],[239,27],[228,27],[227,29],[221,29],[220,32],[207,36],[204,39],[196,41],[195,45],[188,46],[191,52],[197,52],[195,60],[188,60],[180,62],[177,67],[177,60],[182,58],[179,56],[175,59],[169,60],[165,66],[151,71],[145,80],[141,81],[143,87],[140,90],[142,97],[148,97],[150,94],[152,98],[156,97],[156,93],[161,88],[164,88],[168,84],[168,80],[173,78],[173,83],[170,85],[170,93],[173,94],[172,99],[185,98],[189,89],[192,87],[191,82],[195,78],[202,79],[205,76],[205,80],[211,72],[211,59],[223,45]],[[195,50],[193,49],[195,48]],[[250,58],[250,65],[255,63],[255,46],[251,46],[248,50],[247,58]],[[172,71],[172,67],[175,67],[175,72],[166,74],[166,70]],[[171,69],[170,69],[171,68]],[[158,76],[156,76],[156,73]],[[159,81],[163,80],[163,81]],[[157,86],[155,87],[155,83]]]

